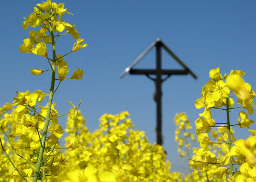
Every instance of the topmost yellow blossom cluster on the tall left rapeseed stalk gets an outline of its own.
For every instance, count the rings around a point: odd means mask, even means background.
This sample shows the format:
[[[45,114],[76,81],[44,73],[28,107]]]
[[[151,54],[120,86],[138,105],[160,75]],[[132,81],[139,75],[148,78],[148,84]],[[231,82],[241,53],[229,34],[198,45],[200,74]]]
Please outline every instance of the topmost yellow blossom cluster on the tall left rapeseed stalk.
[[[24,30],[27,29],[27,26],[39,27],[40,29],[38,29],[37,31],[30,30],[29,38],[24,38],[23,44],[19,46],[19,50],[22,53],[32,52],[36,55],[47,58],[48,61],[56,61],[56,66],[58,66],[59,81],[63,81],[64,79],[66,79],[65,77],[68,73],[68,67],[66,61],[63,61],[63,57],[70,52],[77,51],[87,46],[87,44],[82,44],[84,39],[79,38],[79,33],[75,29],[74,25],[71,25],[62,19],[62,16],[65,13],[69,12],[66,10],[66,8],[64,8],[63,3],[51,3],[51,0],[47,0],[46,2],[36,4],[36,7],[34,7],[34,12],[30,13],[27,18],[24,18],[25,21],[22,23],[22,27]],[[64,30],[66,30],[65,33],[59,34]],[[48,32],[49,34],[47,34]],[[55,32],[56,34],[54,34]],[[57,38],[67,33],[71,34],[72,37],[76,39],[76,42],[74,42],[73,44],[72,50],[64,56],[58,54],[56,55],[56,57],[50,59],[48,57],[46,44],[51,44],[55,47],[55,42]],[[53,50],[53,52],[55,52],[55,49]],[[30,71],[33,75],[39,75],[45,72],[41,69],[32,68],[30,69]],[[76,80],[82,79],[82,73],[82,70],[78,68],[76,71],[74,71],[74,74],[70,78]]]

